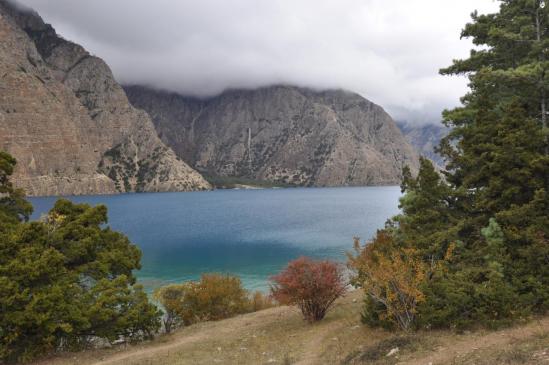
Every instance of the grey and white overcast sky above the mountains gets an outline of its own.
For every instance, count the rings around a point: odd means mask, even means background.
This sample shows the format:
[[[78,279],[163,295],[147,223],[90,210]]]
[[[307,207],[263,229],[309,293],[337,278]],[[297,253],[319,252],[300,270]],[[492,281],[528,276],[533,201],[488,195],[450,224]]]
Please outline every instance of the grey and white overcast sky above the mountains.
[[[344,88],[399,120],[438,122],[466,80],[470,13],[494,0],[19,0],[122,83],[208,96],[274,83]]]

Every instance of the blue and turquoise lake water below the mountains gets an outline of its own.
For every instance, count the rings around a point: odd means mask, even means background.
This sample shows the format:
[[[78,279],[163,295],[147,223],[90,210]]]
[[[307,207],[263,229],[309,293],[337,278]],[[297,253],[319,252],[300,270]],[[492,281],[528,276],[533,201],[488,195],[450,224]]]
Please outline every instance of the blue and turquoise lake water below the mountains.
[[[105,204],[109,225],[143,251],[137,273],[147,290],[198,279],[240,276],[265,290],[269,276],[299,256],[344,261],[353,237],[369,239],[398,213],[399,187],[216,190],[69,197]],[[56,198],[31,198],[33,218]]]

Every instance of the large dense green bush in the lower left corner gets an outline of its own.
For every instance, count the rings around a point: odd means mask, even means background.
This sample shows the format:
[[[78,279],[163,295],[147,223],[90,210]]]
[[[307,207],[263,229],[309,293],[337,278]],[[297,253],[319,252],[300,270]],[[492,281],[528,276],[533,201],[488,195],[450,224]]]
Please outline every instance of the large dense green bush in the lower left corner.
[[[0,362],[151,337],[161,313],[135,285],[141,252],[104,226],[107,208],[60,199],[26,223],[32,207],[6,178],[14,164],[0,154]]]

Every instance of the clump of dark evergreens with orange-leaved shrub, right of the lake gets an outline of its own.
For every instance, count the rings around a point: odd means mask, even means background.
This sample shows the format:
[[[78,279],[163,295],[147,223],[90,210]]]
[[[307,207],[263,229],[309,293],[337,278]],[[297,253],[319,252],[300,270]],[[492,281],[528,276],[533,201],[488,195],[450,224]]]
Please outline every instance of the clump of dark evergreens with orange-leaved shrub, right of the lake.
[[[466,74],[463,105],[439,148],[404,171],[402,214],[351,258],[364,320],[384,327],[498,327],[549,309],[549,10],[515,0],[473,14],[482,50],[442,70]],[[391,274],[384,269],[394,268]]]

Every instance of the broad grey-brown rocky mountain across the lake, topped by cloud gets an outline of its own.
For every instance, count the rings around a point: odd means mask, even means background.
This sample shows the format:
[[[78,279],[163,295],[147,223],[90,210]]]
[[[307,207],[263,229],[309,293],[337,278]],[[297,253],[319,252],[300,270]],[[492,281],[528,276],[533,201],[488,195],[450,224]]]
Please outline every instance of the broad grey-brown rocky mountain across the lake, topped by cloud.
[[[418,157],[391,117],[361,96],[291,86],[208,100],[126,87],[162,140],[199,171],[302,186],[397,184]]]

